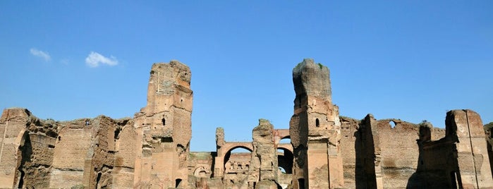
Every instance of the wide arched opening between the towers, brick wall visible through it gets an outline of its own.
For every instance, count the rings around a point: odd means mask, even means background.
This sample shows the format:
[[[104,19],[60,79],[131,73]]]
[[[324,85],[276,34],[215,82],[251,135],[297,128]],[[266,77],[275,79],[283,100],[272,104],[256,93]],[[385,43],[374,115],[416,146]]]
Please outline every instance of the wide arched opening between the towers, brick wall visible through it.
[[[248,176],[252,150],[248,147],[237,146],[231,148],[224,155],[224,178],[226,185],[241,183]]]

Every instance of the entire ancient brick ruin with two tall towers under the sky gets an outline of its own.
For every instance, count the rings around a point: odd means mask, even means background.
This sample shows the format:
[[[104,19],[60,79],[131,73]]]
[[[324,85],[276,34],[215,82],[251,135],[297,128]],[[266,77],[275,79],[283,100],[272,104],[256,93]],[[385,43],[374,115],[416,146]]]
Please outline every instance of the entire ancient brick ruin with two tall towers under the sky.
[[[312,59],[293,69],[289,129],[260,119],[235,142],[217,128],[216,152],[190,152],[190,78],[183,63],[154,63],[133,118],[4,109],[0,188],[493,188],[493,123],[468,109],[447,112],[445,129],[340,116],[329,68]]]

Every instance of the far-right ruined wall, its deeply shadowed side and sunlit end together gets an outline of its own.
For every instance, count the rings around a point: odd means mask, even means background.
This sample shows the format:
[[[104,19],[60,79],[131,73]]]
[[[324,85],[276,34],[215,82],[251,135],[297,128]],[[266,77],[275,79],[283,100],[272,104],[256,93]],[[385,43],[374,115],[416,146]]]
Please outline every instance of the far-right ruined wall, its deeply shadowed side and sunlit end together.
[[[446,114],[446,135],[431,140],[432,126],[420,126],[418,170],[410,187],[492,188],[492,171],[480,116],[471,110]]]

